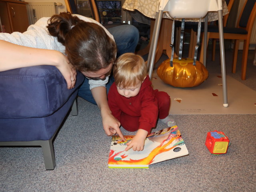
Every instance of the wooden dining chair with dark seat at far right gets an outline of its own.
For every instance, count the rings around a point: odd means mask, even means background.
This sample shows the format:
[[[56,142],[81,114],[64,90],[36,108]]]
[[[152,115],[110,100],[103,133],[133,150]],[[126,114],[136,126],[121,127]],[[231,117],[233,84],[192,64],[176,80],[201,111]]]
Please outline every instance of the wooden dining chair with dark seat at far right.
[[[248,50],[250,44],[250,37],[252,33],[252,27],[254,24],[254,19],[256,16],[256,0],[246,0],[244,3],[244,7],[242,8],[242,12],[239,16],[236,27],[224,27],[224,39],[234,40],[234,56],[233,56],[233,65],[232,72],[236,72],[236,62],[238,55],[238,47],[239,40],[244,40],[244,48],[242,54],[242,72],[241,79],[246,79],[246,66],[247,66],[247,57]],[[196,32],[196,28],[193,28],[194,32]],[[204,39],[204,33],[202,33],[202,39]],[[207,44],[209,38],[218,39],[219,32],[218,26],[209,26],[207,33]],[[204,44],[202,42],[201,50],[204,50]],[[203,54],[200,54],[200,58],[202,58]],[[201,59],[200,59],[201,60]]]

